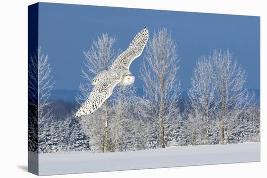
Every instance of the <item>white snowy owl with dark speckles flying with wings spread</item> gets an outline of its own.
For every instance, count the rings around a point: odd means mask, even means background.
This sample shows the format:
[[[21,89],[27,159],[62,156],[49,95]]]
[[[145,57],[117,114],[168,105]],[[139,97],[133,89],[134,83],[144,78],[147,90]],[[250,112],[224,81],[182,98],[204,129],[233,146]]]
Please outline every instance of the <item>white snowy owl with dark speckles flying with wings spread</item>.
[[[131,85],[134,76],[129,71],[131,63],[141,55],[149,38],[149,31],[144,27],[136,34],[128,49],[118,55],[109,70],[104,70],[92,81],[93,91],[75,114],[75,117],[93,113],[109,98],[116,85]]]

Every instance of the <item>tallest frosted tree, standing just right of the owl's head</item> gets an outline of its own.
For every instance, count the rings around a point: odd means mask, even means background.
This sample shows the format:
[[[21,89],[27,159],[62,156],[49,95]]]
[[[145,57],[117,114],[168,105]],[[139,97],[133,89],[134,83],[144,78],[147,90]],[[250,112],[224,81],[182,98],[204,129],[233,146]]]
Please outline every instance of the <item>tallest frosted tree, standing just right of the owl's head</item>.
[[[144,81],[144,94],[150,100],[150,119],[160,132],[161,147],[166,147],[167,130],[173,129],[178,118],[181,94],[178,77],[177,45],[166,28],[154,32],[150,38],[139,77]]]

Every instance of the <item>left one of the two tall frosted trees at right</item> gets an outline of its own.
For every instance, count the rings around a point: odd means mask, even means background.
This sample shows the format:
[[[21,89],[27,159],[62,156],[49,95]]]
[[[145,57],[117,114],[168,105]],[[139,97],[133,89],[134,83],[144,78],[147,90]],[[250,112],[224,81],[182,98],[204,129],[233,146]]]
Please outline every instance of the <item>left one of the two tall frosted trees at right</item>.
[[[189,106],[187,106],[192,119],[203,120],[204,118],[207,145],[209,144],[210,118],[216,106],[216,86],[213,78],[213,65],[210,58],[211,56],[208,56],[208,58],[201,56],[196,64],[191,77],[191,88],[188,90]]]

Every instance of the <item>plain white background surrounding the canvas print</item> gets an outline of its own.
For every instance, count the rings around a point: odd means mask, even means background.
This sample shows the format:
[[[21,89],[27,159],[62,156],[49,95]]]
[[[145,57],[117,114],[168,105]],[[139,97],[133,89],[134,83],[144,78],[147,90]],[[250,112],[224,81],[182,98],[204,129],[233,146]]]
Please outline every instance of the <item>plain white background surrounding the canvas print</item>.
[[[265,0],[46,0],[102,6],[261,16],[261,162],[87,173],[56,178],[258,178],[267,176],[267,5]],[[0,177],[36,177],[27,170],[27,6],[36,0],[0,1]],[[174,22],[175,23],[175,22]]]

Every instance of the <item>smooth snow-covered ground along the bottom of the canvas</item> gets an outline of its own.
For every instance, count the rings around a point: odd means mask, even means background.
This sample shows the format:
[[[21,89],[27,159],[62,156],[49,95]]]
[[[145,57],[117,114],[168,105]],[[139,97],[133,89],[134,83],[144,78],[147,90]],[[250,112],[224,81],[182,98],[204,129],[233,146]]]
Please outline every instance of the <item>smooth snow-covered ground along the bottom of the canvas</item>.
[[[29,152],[29,156],[33,158],[36,155]],[[39,175],[258,161],[259,142],[225,146],[178,146],[115,153],[77,151],[39,154]]]

